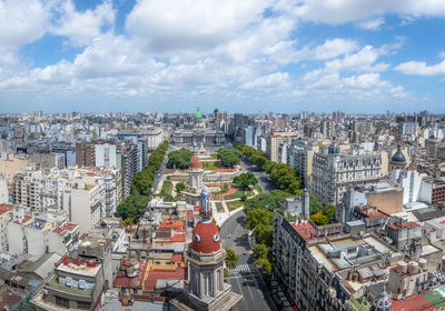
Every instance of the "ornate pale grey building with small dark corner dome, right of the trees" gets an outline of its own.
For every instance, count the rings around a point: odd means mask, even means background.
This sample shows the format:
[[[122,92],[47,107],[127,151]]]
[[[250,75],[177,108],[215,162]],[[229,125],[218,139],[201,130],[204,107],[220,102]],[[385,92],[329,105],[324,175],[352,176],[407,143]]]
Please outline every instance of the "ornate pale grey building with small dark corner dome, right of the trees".
[[[323,203],[339,204],[349,187],[374,183],[382,177],[380,153],[340,153],[334,139],[327,153],[314,156],[310,190]]]

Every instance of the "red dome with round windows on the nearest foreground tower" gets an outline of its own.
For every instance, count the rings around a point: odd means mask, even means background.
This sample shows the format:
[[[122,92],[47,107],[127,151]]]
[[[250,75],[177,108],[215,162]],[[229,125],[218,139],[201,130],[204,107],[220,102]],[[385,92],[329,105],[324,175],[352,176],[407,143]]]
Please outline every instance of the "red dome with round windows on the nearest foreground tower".
[[[212,253],[221,248],[221,241],[215,222],[210,219],[200,221],[194,229],[191,249],[199,253]]]

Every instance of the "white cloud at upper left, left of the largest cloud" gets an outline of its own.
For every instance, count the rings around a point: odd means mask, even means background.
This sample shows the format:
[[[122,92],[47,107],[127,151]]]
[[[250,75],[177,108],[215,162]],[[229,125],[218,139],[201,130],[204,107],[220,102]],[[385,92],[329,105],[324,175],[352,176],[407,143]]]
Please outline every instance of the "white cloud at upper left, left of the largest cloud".
[[[95,10],[79,12],[76,10],[72,0],[61,3],[60,17],[53,22],[51,32],[69,38],[73,47],[83,47],[101,33],[101,29],[115,22],[115,11],[109,1],[98,4]]]

